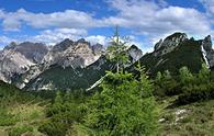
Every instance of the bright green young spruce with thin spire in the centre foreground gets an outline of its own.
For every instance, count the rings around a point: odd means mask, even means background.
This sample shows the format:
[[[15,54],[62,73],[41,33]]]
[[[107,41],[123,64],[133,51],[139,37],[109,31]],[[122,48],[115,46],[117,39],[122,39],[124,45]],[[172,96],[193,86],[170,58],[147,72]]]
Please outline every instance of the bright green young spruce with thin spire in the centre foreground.
[[[117,38],[119,39],[119,38]],[[119,41],[117,41],[119,42]],[[117,46],[115,49],[119,49]],[[113,50],[114,53],[115,50]],[[153,97],[154,84],[142,67],[140,78],[119,68],[123,57],[116,54],[117,72],[109,71],[88,103],[85,126],[97,136],[153,136],[157,134],[158,114]],[[122,60],[122,61],[121,61]]]

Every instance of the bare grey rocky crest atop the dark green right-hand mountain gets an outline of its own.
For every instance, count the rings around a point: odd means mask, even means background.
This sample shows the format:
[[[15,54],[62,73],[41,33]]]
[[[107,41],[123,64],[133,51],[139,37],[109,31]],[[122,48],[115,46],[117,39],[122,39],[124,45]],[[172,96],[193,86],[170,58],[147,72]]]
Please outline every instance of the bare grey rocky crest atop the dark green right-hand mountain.
[[[185,39],[188,39],[185,33],[174,33],[166,37],[165,41],[160,39],[155,45],[155,56],[161,56],[172,52],[180,43],[184,42]]]

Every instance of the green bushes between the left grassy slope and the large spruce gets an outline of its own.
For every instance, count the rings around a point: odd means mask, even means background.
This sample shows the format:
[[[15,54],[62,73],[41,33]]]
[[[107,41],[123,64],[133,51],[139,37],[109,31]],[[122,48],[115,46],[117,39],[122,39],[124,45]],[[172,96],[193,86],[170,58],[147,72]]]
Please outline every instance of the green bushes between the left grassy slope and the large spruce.
[[[46,109],[49,121],[42,124],[38,131],[48,136],[65,136],[75,122],[81,122],[86,113],[83,101],[82,93],[57,92],[54,103]]]

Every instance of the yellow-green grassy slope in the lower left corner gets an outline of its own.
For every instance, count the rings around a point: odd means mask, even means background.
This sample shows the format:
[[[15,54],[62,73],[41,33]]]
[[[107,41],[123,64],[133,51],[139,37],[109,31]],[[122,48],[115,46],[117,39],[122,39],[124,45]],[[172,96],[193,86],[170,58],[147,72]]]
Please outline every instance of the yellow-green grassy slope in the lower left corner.
[[[45,120],[42,101],[15,87],[0,81],[0,136],[10,132],[29,132],[32,136],[43,136],[37,132],[40,122]]]

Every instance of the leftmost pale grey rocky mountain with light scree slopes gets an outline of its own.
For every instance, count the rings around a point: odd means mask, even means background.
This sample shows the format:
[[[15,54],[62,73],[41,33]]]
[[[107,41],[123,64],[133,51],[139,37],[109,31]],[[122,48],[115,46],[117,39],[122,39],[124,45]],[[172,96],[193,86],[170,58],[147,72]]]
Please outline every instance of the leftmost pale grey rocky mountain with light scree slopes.
[[[40,64],[48,47],[40,43],[11,43],[0,52],[0,80],[11,82],[12,78],[26,72]]]

